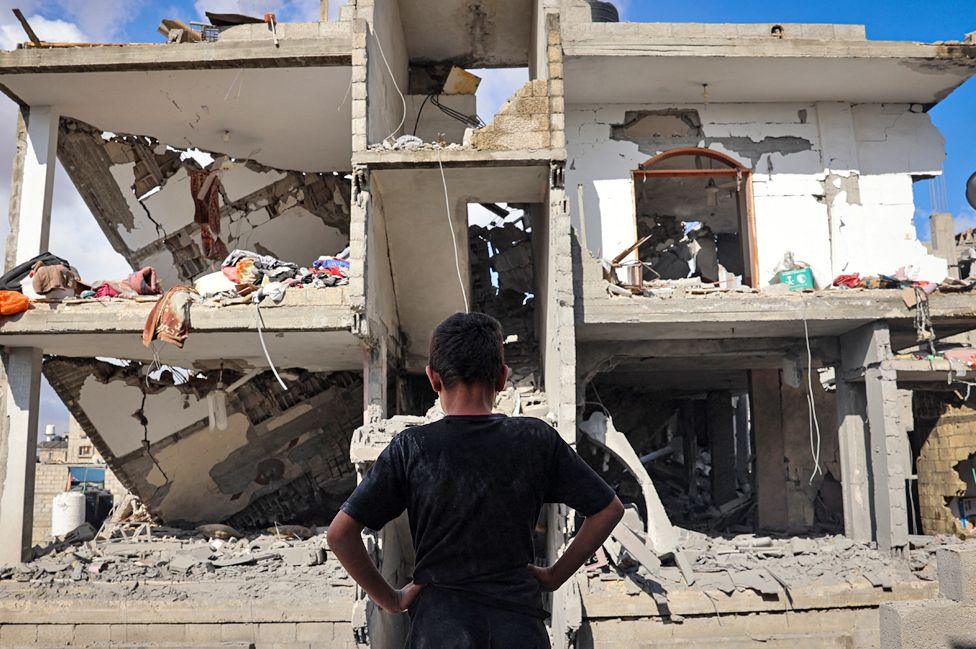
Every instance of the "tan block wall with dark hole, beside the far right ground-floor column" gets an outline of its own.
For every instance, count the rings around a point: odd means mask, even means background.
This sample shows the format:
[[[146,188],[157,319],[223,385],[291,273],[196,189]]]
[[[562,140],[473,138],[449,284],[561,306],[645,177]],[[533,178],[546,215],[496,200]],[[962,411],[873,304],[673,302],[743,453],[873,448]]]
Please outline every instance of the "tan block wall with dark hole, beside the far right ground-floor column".
[[[913,399],[918,505],[925,534],[973,533],[959,503],[976,504],[976,405],[958,395],[916,391]]]

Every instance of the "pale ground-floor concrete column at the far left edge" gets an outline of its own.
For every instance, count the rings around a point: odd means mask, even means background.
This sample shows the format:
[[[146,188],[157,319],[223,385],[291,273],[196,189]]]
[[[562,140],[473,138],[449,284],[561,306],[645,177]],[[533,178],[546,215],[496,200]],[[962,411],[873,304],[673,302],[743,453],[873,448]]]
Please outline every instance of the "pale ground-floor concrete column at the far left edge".
[[[30,559],[41,393],[40,350],[17,348],[2,356],[7,417],[0,428],[0,565]]]

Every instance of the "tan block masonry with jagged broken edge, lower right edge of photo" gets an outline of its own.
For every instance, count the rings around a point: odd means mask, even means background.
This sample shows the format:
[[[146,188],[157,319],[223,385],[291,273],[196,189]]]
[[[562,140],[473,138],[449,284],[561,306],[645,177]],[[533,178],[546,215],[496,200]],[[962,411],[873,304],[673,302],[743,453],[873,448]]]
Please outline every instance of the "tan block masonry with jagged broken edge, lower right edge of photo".
[[[929,397],[918,395],[916,399]],[[930,402],[939,407],[936,404]],[[941,408],[942,413],[922,444],[916,463],[919,510],[922,531],[926,534],[962,531],[946,499],[965,493],[966,483],[953,467],[976,452],[976,409],[968,404],[948,403]]]

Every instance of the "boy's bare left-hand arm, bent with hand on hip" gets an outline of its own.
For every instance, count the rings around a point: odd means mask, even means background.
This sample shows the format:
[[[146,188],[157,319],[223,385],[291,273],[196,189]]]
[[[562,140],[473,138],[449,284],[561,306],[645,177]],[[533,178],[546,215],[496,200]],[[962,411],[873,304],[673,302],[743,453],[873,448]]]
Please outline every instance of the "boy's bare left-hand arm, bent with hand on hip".
[[[403,613],[423,586],[413,582],[400,590],[390,586],[369,558],[366,546],[363,545],[362,531],[361,523],[340,511],[329,525],[329,549],[377,606],[387,613]]]

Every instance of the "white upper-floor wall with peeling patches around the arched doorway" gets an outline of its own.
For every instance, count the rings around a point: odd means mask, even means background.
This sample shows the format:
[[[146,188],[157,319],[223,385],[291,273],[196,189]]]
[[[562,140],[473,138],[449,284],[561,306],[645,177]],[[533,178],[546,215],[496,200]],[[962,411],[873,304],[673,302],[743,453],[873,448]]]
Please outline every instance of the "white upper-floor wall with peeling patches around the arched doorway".
[[[819,286],[836,272],[909,265],[941,279],[944,269],[912,227],[912,177],[941,165],[943,141],[928,116],[908,105],[847,105],[845,124],[833,119],[832,106],[571,106],[567,182],[584,186],[587,247],[612,258],[636,240],[631,172],[638,165],[670,149],[705,147],[753,170],[760,285],[787,252],[813,267]],[[863,162],[838,161],[841,146]],[[847,191],[852,185],[858,191]]]

